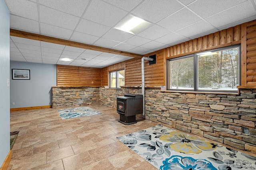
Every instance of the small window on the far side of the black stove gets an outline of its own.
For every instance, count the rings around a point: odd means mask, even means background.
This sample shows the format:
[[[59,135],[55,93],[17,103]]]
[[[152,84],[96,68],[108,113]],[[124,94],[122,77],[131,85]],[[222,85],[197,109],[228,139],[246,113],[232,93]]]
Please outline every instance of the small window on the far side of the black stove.
[[[110,72],[110,88],[120,88],[124,86],[124,70]]]

